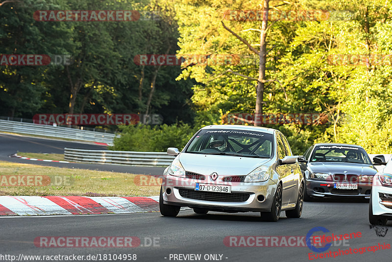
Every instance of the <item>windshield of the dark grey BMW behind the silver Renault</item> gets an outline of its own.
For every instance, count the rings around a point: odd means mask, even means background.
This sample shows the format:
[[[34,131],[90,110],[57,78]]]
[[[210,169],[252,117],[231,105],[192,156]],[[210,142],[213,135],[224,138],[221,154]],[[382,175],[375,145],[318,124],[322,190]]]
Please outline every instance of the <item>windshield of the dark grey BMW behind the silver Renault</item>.
[[[318,146],[310,162],[349,162],[371,164],[365,150],[350,146]]]

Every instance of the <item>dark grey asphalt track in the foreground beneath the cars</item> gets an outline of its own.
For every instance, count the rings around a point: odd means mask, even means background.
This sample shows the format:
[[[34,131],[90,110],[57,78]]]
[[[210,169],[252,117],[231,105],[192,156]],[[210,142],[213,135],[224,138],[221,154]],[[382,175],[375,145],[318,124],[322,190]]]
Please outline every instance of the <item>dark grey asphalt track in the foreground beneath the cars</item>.
[[[286,218],[278,222],[260,222],[258,213],[226,214],[210,212],[195,214],[193,210],[180,211],[175,218],[160,213],[122,215],[78,215],[50,217],[1,217],[1,254],[23,255],[84,255],[136,254],[137,261],[180,261],[173,254],[220,254],[222,261],[309,261],[308,247],[230,247],[225,246],[226,236],[306,236],[314,227],[324,227],[327,234],[343,235],[361,232],[361,237],[348,240],[344,246],[331,246],[330,251],[368,247],[378,243],[391,244],[392,232],[377,236],[368,224],[366,201],[306,202],[301,218]],[[389,223],[389,229],[391,222]],[[322,235],[321,232],[315,233]],[[33,241],[39,236],[137,236],[138,247],[36,247]],[[155,246],[142,246],[158,237]],[[338,241],[340,242],[340,241]],[[337,243],[339,244],[339,243]],[[325,252],[329,252],[325,251]],[[325,253],[324,252],[324,253]],[[313,252],[314,253],[314,252]],[[172,258],[170,256],[172,254]],[[166,259],[165,259],[166,258]],[[177,257],[178,258],[178,257]],[[218,258],[220,258],[218,256]],[[227,259],[226,259],[227,258]],[[98,260],[99,261],[99,260]],[[108,261],[108,260],[107,260]],[[185,261],[185,260],[182,260]],[[187,260],[191,261],[191,260]],[[391,261],[391,249],[373,253],[348,254],[336,258],[319,258],[317,261]]]

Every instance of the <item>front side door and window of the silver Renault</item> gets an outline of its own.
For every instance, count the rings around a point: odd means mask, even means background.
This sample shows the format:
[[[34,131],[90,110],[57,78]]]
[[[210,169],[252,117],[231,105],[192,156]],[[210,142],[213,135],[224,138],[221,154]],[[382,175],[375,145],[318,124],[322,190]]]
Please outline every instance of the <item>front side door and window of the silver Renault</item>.
[[[286,155],[286,148],[283,144],[282,137],[279,133],[276,134],[276,151],[279,159],[283,159]],[[283,183],[282,191],[282,205],[287,205],[290,200],[290,185],[291,180],[290,165],[279,165],[276,167],[276,172],[280,175]]]

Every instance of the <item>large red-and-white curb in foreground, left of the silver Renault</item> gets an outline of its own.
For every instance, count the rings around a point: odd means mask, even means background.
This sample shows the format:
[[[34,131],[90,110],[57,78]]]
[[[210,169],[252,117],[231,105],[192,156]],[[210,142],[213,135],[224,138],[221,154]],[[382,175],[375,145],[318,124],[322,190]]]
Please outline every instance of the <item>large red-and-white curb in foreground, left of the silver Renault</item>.
[[[122,214],[159,211],[159,196],[0,196],[0,215]]]

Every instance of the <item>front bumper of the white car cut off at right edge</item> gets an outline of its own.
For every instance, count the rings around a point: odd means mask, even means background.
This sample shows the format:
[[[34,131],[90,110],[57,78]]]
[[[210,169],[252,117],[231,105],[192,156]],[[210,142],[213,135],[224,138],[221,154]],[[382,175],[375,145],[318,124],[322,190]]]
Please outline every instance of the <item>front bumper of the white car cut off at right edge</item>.
[[[392,187],[381,185],[378,176],[374,176],[374,179],[377,180],[373,182],[371,192],[373,215],[392,216]]]

